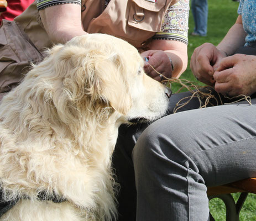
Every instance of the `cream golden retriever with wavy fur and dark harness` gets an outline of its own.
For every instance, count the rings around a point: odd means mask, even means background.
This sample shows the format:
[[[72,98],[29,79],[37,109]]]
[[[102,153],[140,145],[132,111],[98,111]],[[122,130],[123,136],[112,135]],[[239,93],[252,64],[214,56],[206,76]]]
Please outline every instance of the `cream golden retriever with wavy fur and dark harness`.
[[[170,89],[111,35],[77,36],[47,53],[1,102],[1,191],[15,203],[0,220],[114,220],[118,127],[163,116]]]

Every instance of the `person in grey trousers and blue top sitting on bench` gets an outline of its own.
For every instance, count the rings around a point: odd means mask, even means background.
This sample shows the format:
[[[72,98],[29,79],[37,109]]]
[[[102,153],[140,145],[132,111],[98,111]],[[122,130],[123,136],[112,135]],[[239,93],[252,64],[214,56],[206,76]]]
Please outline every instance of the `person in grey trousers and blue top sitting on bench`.
[[[255,13],[254,1],[241,0],[221,43],[205,43],[191,57],[195,77],[211,86],[219,104],[229,104],[198,109],[192,98],[174,113],[191,96],[177,93],[166,117],[119,129],[113,162],[122,188],[137,194],[136,220],[206,221],[207,187],[256,176]],[[240,94],[250,96],[250,103],[233,98]]]

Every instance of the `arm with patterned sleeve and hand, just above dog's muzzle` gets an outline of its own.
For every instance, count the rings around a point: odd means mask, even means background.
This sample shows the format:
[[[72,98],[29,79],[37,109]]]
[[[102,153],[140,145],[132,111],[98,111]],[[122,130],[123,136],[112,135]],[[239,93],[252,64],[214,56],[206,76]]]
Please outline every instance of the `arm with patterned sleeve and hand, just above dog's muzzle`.
[[[147,53],[151,55],[154,52],[154,56],[148,63],[166,77],[178,78],[186,70],[188,23],[189,0],[180,0],[168,8],[160,33],[155,34],[154,40],[149,45],[149,51],[145,51],[145,55]],[[177,41],[177,35],[181,41]],[[173,70],[169,58],[173,62]],[[150,65],[145,65],[145,71],[148,71],[148,75],[155,80],[161,81],[159,74],[152,70]]]

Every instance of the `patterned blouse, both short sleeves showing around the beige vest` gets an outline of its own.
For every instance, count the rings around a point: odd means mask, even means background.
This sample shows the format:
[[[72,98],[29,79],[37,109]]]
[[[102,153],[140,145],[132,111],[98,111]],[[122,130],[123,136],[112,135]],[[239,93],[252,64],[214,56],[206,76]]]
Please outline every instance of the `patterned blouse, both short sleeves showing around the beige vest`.
[[[81,4],[81,0],[36,0],[38,10],[55,6],[56,4]],[[105,6],[111,0],[105,0]],[[180,0],[170,6],[165,13],[161,31],[155,33],[153,39],[175,40],[187,44],[187,33],[189,30],[189,0]]]

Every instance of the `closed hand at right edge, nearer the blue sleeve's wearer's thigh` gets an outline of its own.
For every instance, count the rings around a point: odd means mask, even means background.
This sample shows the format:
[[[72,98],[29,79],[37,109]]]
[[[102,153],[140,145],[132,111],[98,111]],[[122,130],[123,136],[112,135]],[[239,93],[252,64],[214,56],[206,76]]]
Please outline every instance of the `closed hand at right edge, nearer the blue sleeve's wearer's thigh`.
[[[235,54],[224,58],[213,74],[215,90],[229,97],[256,92],[256,56]]]

